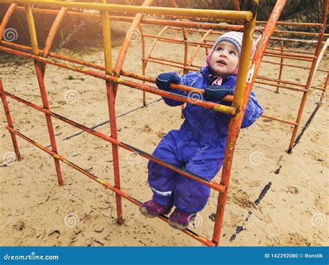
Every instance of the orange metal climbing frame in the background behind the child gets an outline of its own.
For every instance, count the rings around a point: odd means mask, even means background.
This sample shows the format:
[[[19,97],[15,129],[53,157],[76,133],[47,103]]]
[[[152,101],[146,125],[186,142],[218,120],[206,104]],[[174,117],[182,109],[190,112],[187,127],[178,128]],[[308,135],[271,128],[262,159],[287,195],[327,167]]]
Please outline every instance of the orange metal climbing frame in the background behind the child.
[[[171,1],[172,2],[172,1]],[[173,6],[175,3],[173,3]],[[235,9],[239,10],[239,3],[238,1],[234,1]],[[329,34],[325,34],[324,31],[326,29],[326,22],[327,22],[327,15],[328,15],[328,0],[323,0],[323,6],[322,6],[322,19],[321,23],[294,23],[294,22],[277,22],[276,23],[276,29],[273,31],[273,35],[266,35],[263,34],[262,37],[258,40],[264,41],[264,38],[269,37],[271,41],[273,42],[280,42],[280,48],[269,48],[264,50],[264,54],[260,52],[260,49],[258,48],[256,51],[256,54],[258,56],[265,57],[274,57],[279,58],[280,62],[275,61],[268,61],[267,58],[262,60],[262,63],[269,63],[274,65],[279,65],[279,72],[278,72],[278,78],[273,79],[269,77],[262,77],[260,75],[255,76],[254,83],[260,83],[262,85],[271,86],[276,88],[276,93],[278,93],[279,89],[287,89],[287,90],[294,90],[296,92],[303,93],[303,97],[301,98],[301,104],[299,106],[299,109],[296,114],[296,120],[284,120],[282,118],[269,116],[265,113],[262,115],[264,118],[269,118],[271,120],[276,120],[278,122],[283,122],[287,125],[291,125],[294,127],[292,130],[292,136],[290,139],[288,152],[292,152],[292,148],[295,145],[296,140],[296,134],[298,132],[298,127],[301,123],[301,118],[303,115],[303,110],[305,107],[305,102],[307,99],[307,95],[310,92],[310,89],[314,90],[321,90],[321,96],[319,98],[319,105],[322,104],[323,97],[326,93],[326,88],[328,86],[328,79],[329,79],[329,70],[326,69],[318,69],[319,64],[321,62],[321,59],[323,58],[323,55],[326,52],[326,49],[329,45],[329,39],[326,40],[323,44],[323,38],[329,37]],[[273,13],[271,16],[276,15],[275,10],[273,10]],[[256,25],[259,27],[256,27],[257,29],[260,29],[260,32],[262,32],[263,25],[266,24],[265,30],[271,26],[268,22],[256,22]],[[277,26],[280,26],[281,29],[278,29]],[[319,29],[319,33],[310,33],[310,32],[301,32],[301,31],[289,31],[289,27],[304,27],[304,28],[313,28],[313,29]],[[287,28],[287,29],[285,29]],[[164,37],[164,33],[171,30],[178,30],[182,31],[183,33],[183,39],[178,40],[170,37]],[[158,33],[158,35],[150,35],[150,34],[141,34],[142,35],[142,74],[146,75],[146,66],[148,63],[157,63],[160,65],[167,65],[169,67],[174,67],[178,70],[183,69],[183,73],[186,74],[189,72],[189,70],[192,71],[199,71],[201,68],[201,65],[194,65],[194,59],[196,58],[196,55],[199,53],[201,48],[205,49],[205,54],[208,54],[208,50],[211,49],[212,43],[214,40],[207,40],[212,35],[221,35],[225,33],[226,31],[242,31],[244,29],[243,25],[232,25],[232,24],[215,24],[215,23],[195,23],[195,22],[167,22],[166,26]],[[199,42],[193,42],[187,40],[187,31],[194,32],[194,33],[200,33],[201,34],[201,40]],[[142,30],[141,30],[142,32]],[[284,38],[285,36],[292,36],[294,35],[295,38]],[[296,38],[297,36],[297,38]],[[305,40],[303,37],[312,37],[312,40]],[[146,54],[146,45],[145,45],[145,38],[152,38],[153,44],[151,45],[151,48],[149,49],[148,53]],[[153,49],[159,42],[172,42],[176,43],[178,45],[184,45],[185,53],[183,61],[172,61],[168,60],[166,58],[156,58],[154,56],[151,56]],[[211,43],[210,43],[211,42]],[[303,51],[303,54],[301,54],[301,51],[298,50],[289,50],[285,49],[284,42],[296,42],[296,43],[306,43],[307,45],[316,45],[316,49],[314,50],[314,53]],[[260,42],[258,42],[259,44]],[[190,58],[188,57],[188,49],[192,47],[194,49],[192,56]],[[294,64],[285,63],[285,60],[296,60],[296,61],[303,61],[307,65],[307,63],[311,63],[311,65],[308,66],[298,66]],[[282,72],[283,67],[285,67],[285,71],[288,70],[295,70],[296,68],[300,70],[304,70],[305,74],[307,74],[307,81],[306,83],[297,83],[293,81],[285,81],[282,79]],[[316,72],[324,72],[327,73],[327,76],[325,80],[323,80],[323,86],[312,86],[312,81],[314,79],[314,75]],[[226,98],[226,100],[229,100]],[[146,106],[146,95],[143,93],[143,104]],[[183,106],[182,106],[183,108]],[[278,113],[280,113],[280,109],[276,110]]]

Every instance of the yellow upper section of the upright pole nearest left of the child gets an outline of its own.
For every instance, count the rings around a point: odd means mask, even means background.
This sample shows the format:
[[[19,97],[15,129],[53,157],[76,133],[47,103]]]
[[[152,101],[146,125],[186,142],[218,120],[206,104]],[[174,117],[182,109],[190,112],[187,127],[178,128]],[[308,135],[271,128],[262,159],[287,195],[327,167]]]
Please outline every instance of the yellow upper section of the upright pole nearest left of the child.
[[[106,3],[106,0],[102,0]],[[106,74],[112,74],[111,28],[108,11],[101,11],[101,24],[103,30],[104,61]]]

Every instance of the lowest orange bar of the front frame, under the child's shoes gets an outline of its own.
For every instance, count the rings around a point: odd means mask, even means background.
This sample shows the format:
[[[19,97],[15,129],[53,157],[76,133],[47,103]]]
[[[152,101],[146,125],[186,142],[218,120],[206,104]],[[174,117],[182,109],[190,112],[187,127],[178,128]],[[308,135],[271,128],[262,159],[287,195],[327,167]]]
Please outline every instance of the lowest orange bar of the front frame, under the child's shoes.
[[[111,191],[114,191],[115,193],[119,194],[121,197],[125,198],[129,202],[133,202],[133,204],[137,205],[138,207],[141,205],[141,202],[139,200],[137,200],[137,199],[133,198],[132,196],[126,194],[121,189],[116,188],[115,186],[112,186],[110,183],[106,182],[105,180],[100,179],[99,177],[96,177],[95,175],[93,175],[90,172],[87,172],[86,170],[84,170],[80,166],[77,166],[76,164],[72,163],[71,161],[65,159],[65,157],[61,156],[60,154],[56,154],[55,152],[49,150],[47,147],[44,147],[44,146],[40,145],[40,143],[35,142],[34,140],[28,138],[27,136],[24,136],[24,134],[19,133],[18,131],[16,131],[15,129],[12,129],[11,127],[7,126],[6,129],[8,129],[8,131],[12,132],[13,134],[16,134],[17,136],[23,138],[24,140],[28,141],[28,143],[31,143],[31,144],[35,145],[36,147],[40,148],[44,152],[47,152],[47,154],[50,154],[51,156],[55,157],[56,159],[62,161],[65,164],[67,164],[67,166],[70,166],[71,168],[74,168],[75,170],[77,170],[78,172],[83,173],[83,175],[89,177],[90,179],[94,180],[95,182],[98,182],[99,184],[101,184],[101,185],[105,186],[106,188],[110,189]],[[167,222],[167,220],[168,220],[167,216],[165,216],[163,214],[158,216],[158,218],[160,218],[161,220],[163,220],[165,222]],[[197,241],[205,244],[206,246],[214,246],[214,243],[212,241],[210,241],[209,239],[206,239],[203,236],[199,236],[199,234],[196,234],[192,230],[186,229],[186,230],[182,230],[182,232],[189,235],[189,236],[192,236],[194,239],[196,239]]]

